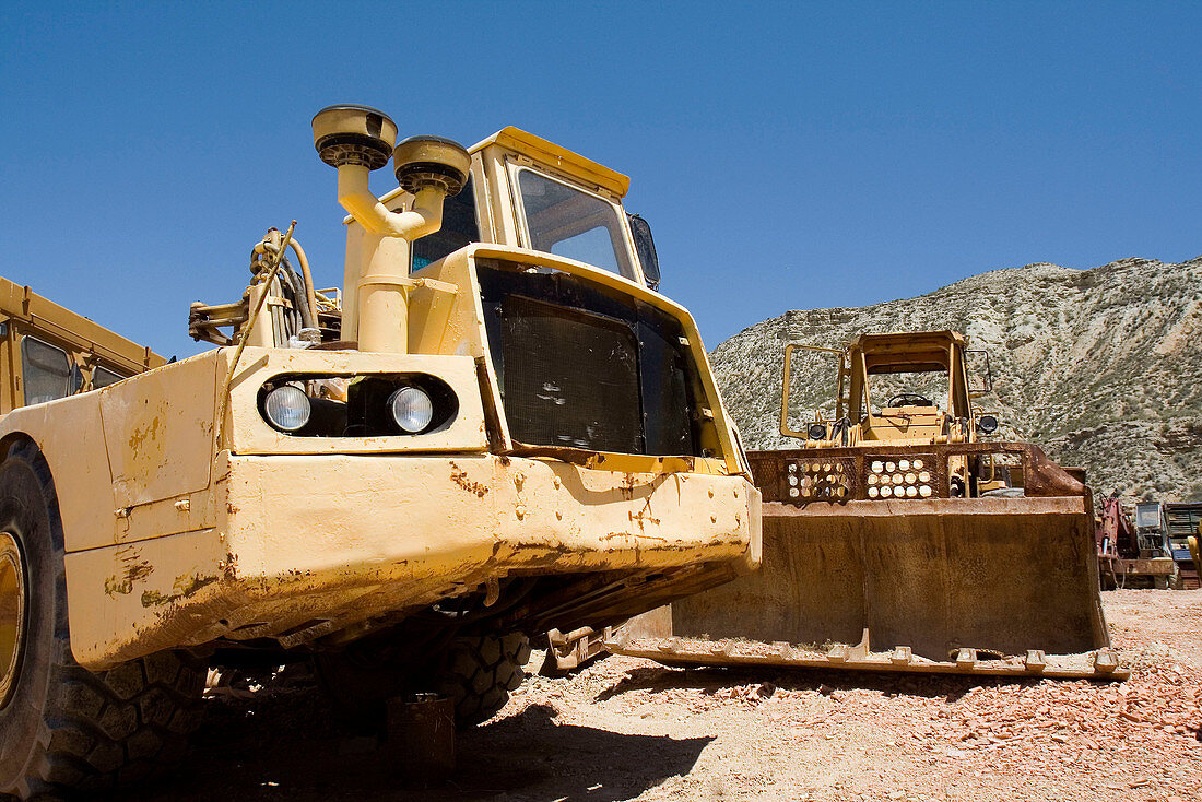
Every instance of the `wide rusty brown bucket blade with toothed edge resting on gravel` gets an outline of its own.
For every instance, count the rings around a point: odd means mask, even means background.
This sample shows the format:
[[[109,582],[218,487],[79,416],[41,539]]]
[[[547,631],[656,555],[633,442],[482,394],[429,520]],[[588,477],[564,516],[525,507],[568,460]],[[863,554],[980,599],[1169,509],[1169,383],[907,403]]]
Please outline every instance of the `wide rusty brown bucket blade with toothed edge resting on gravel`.
[[[1088,497],[763,505],[763,564],[609,650],[774,665],[1120,679]]]

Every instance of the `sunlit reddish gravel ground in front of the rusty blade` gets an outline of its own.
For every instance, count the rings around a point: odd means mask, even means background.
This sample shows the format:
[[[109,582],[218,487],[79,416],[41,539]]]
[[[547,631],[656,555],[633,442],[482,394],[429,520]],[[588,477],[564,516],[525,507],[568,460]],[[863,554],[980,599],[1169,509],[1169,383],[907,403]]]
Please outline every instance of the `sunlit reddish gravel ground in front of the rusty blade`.
[[[530,689],[522,703],[595,694],[591,708],[569,703],[560,720],[601,708],[716,732],[727,745],[710,772],[742,760],[811,761],[809,785],[773,774],[766,798],[1202,798],[1202,666],[1154,640],[1162,619],[1183,641],[1198,640],[1202,592],[1106,595],[1108,610],[1121,604],[1111,614],[1115,646],[1133,666],[1121,683],[680,670],[611,658],[554,689]],[[637,798],[696,798],[698,784]],[[763,790],[731,779],[722,788],[727,798]]]

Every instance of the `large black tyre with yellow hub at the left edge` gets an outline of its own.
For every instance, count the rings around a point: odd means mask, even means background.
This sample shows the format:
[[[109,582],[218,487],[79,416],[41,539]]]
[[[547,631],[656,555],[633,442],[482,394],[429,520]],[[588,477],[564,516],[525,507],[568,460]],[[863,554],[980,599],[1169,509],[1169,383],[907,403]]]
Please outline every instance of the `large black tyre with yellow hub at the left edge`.
[[[0,796],[150,776],[200,724],[203,666],[159,653],[93,673],[71,655],[54,480],[29,442],[0,464]]]

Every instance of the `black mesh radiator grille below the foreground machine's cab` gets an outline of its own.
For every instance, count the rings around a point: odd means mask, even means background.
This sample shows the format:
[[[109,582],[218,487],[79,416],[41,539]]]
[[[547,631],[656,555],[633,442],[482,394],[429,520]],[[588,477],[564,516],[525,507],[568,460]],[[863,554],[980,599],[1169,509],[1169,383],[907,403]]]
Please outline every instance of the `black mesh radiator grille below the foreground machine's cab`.
[[[480,266],[478,275],[514,440],[698,456],[692,367],[673,317],[561,273]]]

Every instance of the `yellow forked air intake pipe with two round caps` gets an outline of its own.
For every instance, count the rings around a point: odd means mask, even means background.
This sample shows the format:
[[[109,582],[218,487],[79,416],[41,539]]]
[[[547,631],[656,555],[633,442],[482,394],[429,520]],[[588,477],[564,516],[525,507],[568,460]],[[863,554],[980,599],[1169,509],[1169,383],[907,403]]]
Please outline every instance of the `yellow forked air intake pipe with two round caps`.
[[[329,106],[313,118],[313,143],[338,168],[338,202],[363,234],[350,232],[343,299],[343,339],[361,351],[409,350],[411,243],[442,227],[442,202],[468,180],[471,158],[441,137],[410,137],[395,147],[397,125],[368,106]],[[368,177],[392,156],[397,180],[413,196],[409,212],[391,212],[371,194]],[[352,246],[352,237],[362,237]]]

